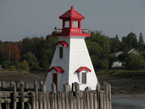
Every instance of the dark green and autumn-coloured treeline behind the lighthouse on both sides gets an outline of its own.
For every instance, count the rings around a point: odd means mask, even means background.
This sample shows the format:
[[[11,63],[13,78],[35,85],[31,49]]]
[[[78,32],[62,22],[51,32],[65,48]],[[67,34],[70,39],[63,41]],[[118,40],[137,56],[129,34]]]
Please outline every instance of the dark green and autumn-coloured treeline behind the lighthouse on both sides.
[[[4,69],[22,69],[27,71],[47,71],[50,67],[54,51],[55,43],[58,38],[53,37],[52,34],[44,37],[24,38],[19,42],[2,42],[0,41],[0,64]],[[143,36],[140,33],[139,41],[134,33],[129,33],[127,36],[119,40],[118,35],[114,38],[103,35],[101,31],[91,32],[91,37],[85,39],[92,63],[95,70],[109,69],[117,58],[112,53],[118,51],[126,51],[129,48],[135,48],[141,54],[139,56],[128,54],[120,56],[119,60],[122,62],[129,62],[126,69],[131,69],[130,62],[145,64],[145,45]],[[140,60],[142,62],[140,62]],[[137,63],[138,64],[138,63]],[[128,67],[129,66],[129,67]],[[144,69],[143,65],[139,69]],[[138,68],[137,68],[138,69]]]

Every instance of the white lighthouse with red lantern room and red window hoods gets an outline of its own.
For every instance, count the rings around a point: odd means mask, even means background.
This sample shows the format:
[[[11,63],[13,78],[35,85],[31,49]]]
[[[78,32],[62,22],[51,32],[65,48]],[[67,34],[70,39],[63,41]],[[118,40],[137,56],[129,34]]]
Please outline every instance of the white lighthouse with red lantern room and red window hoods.
[[[89,29],[81,29],[83,15],[77,12],[73,6],[62,14],[61,32],[54,32],[53,36],[58,37],[50,69],[48,70],[45,81],[46,91],[51,92],[51,82],[56,84],[57,91],[63,91],[63,82],[69,84],[77,82],[80,90],[86,87],[95,90],[98,80],[87,50],[85,37],[90,37]]]

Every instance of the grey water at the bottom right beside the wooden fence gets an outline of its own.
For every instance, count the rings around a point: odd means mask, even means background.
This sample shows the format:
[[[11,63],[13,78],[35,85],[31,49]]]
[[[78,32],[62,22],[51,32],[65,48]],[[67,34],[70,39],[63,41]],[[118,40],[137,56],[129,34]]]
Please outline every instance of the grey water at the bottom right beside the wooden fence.
[[[112,95],[112,109],[145,109],[145,94]]]

